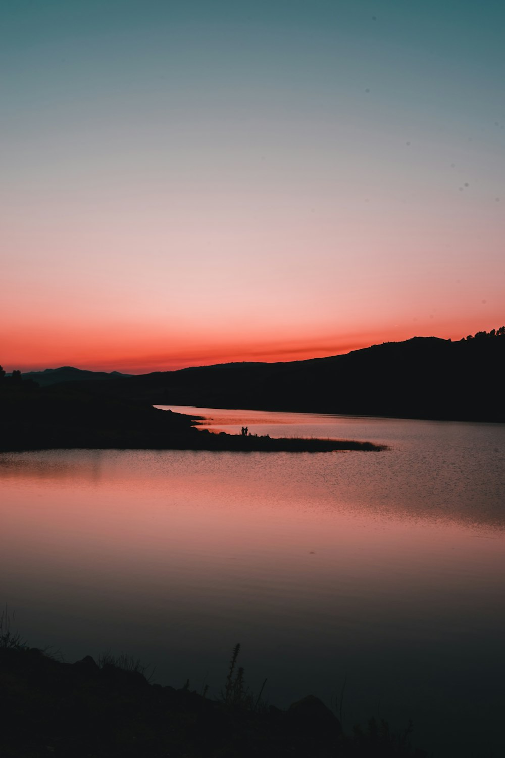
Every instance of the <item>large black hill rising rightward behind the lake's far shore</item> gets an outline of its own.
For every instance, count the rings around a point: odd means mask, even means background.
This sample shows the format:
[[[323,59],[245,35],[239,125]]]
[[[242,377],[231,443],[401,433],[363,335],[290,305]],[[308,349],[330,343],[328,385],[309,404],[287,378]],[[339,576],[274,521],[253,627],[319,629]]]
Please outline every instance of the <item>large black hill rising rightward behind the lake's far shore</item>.
[[[332,358],[185,368],[113,384],[123,397],[159,405],[504,422],[504,369],[503,334],[413,337]]]

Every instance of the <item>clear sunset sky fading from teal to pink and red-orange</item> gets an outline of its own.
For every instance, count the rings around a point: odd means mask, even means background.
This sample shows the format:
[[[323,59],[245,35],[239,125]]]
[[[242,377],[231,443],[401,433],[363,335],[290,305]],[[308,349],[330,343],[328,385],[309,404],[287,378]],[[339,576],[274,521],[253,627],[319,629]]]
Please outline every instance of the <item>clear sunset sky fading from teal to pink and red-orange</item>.
[[[0,362],[505,322],[502,0],[2,0]]]

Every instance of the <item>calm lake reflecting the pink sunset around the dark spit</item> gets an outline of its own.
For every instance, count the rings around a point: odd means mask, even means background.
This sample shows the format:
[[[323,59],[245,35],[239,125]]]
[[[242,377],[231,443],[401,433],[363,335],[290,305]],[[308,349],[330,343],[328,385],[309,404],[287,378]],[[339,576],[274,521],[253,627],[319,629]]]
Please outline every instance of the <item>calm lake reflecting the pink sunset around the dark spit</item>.
[[[505,425],[170,408],[390,449],[0,454],[0,603],[29,643],[217,695],[240,642],[270,703],[503,754]]]

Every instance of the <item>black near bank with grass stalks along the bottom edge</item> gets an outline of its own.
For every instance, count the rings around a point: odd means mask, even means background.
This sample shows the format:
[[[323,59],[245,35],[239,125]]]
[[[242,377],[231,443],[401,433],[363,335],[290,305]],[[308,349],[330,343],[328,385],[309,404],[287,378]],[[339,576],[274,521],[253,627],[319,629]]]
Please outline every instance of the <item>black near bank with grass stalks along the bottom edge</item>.
[[[210,700],[189,687],[149,684],[126,664],[98,666],[89,656],[70,664],[33,648],[0,647],[2,758],[426,756],[384,722],[344,735],[313,696],[286,711],[233,688]]]

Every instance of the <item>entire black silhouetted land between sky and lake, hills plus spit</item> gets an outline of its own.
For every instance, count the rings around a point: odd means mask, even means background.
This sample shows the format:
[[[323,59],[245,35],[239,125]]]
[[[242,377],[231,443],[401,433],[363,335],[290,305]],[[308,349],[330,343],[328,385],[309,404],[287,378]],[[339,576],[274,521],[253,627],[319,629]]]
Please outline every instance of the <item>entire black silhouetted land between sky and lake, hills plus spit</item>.
[[[64,367],[34,374],[0,367],[0,449],[144,448],[264,452],[382,449],[345,440],[271,439],[198,431],[198,417],[154,405],[505,422],[505,327],[459,342],[413,337],[344,356],[229,363],[127,376]],[[69,374],[73,381],[67,379]],[[79,380],[86,374],[86,380]],[[103,377],[106,377],[105,379]]]

